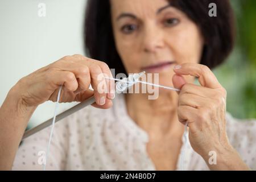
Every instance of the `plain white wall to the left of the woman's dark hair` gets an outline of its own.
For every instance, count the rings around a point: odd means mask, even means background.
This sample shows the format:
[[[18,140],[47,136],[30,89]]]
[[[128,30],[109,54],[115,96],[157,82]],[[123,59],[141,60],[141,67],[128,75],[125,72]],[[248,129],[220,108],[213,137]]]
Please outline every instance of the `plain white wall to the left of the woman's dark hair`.
[[[39,3],[46,17],[38,16]],[[86,0],[0,0],[0,104],[21,77],[64,55],[84,55],[82,26]],[[61,104],[63,111],[74,104]],[[53,115],[47,102],[32,115],[33,127]]]

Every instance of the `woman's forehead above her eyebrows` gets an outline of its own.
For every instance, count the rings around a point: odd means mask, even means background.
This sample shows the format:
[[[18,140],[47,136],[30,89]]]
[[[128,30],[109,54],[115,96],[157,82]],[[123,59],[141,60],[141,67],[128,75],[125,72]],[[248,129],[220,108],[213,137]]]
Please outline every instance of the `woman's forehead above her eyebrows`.
[[[135,15],[155,15],[159,9],[169,5],[167,0],[110,0],[112,13],[118,16],[121,13]]]

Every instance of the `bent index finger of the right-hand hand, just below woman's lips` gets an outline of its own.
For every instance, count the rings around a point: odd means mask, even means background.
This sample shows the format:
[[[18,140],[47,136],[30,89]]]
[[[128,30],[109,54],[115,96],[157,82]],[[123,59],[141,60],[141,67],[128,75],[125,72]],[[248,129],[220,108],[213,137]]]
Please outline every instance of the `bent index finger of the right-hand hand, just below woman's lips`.
[[[176,65],[174,67],[174,72],[179,75],[191,75],[198,77],[200,84],[208,88],[215,89],[221,87],[213,72],[210,71],[207,66],[202,64],[184,63]]]

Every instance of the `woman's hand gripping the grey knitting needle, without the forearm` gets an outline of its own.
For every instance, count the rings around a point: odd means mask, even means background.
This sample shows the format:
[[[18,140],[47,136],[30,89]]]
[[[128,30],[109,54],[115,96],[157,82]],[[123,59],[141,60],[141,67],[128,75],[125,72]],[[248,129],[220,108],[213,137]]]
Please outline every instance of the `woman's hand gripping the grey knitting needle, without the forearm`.
[[[115,84],[112,80],[99,80],[101,73],[112,77],[108,65],[102,61],[82,55],[65,56],[23,77],[12,90],[18,94],[23,105],[36,107],[48,100],[56,101],[60,85],[63,85],[60,102],[82,102],[94,94],[96,103],[93,106],[107,109],[112,106]],[[102,81],[105,81],[108,93],[98,90]],[[89,90],[90,84],[94,91]]]

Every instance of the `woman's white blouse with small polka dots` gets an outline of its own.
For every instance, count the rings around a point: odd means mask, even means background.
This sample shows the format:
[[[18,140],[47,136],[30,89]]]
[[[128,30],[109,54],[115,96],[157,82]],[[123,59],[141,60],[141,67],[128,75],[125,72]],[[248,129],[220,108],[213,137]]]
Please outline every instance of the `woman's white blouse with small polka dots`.
[[[126,111],[123,94],[117,94],[107,110],[86,107],[55,124],[47,170],[155,170],[146,151],[147,133]],[[240,121],[226,114],[230,143],[245,163],[256,169],[256,122]],[[20,144],[13,170],[43,170],[51,127]],[[185,145],[183,144],[182,147]],[[179,155],[177,170],[180,170]],[[190,143],[184,156],[185,170],[209,170]]]

